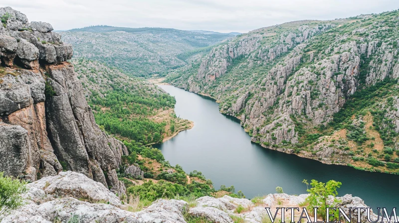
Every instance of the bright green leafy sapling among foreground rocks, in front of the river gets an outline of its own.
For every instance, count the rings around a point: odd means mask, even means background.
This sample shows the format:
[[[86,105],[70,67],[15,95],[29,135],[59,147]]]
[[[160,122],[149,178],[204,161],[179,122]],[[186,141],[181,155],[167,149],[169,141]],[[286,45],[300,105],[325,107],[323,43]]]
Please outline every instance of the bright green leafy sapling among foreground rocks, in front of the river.
[[[306,186],[309,186],[307,180],[303,180],[302,182],[305,183]],[[307,192],[310,194],[310,196],[306,198],[310,210],[313,212],[314,208],[318,208],[318,217],[325,220],[327,208],[335,208],[336,205],[339,203],[339,201],[335,199],[335,197],[338,195],[337,188],[340,188],[341,185],[341,182],[337,182],[334,180],[330,180],[327,183],[312,180],[312,182],[310,183],[310,186],[312,186],[312,188],[307,189]],[[327,202],[329,200],[329,196],[334,197],[333,202]],[[338,214],[338,212],[336,214]]]

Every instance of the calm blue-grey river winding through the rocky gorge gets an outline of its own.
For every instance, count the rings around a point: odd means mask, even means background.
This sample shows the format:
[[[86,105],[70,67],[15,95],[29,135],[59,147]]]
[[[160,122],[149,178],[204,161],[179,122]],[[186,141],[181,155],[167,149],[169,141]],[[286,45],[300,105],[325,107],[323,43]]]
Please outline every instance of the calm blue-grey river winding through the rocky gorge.
[[[287,194],[305,194],[303,179],[335,180],[342,182],[338,196],[358,196],[373,210],[398,207],[399,175],[327,165],[263,148],[250,141],[239,120],[219,113],[213,100],[171,85],[159,87],[176,97],[177,116],[194,121],[194,127],[156,147],[172,165],[181,165],[187,173],[201,171],[215,188],[234,185],[250,199],[276,193],[277,186]]]

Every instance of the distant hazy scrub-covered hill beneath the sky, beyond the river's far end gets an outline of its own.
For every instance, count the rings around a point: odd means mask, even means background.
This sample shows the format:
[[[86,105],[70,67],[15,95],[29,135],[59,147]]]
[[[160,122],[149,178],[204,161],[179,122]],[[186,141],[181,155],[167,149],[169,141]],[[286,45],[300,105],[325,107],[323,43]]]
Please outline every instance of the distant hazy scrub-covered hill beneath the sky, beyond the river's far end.
[[[234,37],[166,28],[90,26],[60,32],[74,57],[97,60],[129,75],[162,76],[186,65],[178,55]]]

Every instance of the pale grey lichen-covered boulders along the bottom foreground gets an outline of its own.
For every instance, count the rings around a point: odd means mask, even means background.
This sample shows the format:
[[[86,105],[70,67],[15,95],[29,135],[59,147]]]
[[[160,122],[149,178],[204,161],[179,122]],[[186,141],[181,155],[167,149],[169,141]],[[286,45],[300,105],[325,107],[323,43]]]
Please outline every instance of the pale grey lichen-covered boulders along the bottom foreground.
[[[227,195],[201,197],[194,205],[182,200],[159,199],[140,212],[129,212],[127,205],[103,184],[81,173],[60,172],[27,184],[27,188],[23,194],[26,205],[3,217],[1,223],[67,223],[71,219],[80,223],[186,223],[187,218],[204,218],[213,223],[233,223],[233,219],[238,218],[248,223],[262,223],[267,215],[265,207],[271,207],[272,213],[276,207],[300,207],[308,196],[269,194],[255,204]],[[350,207],[367,207],[362,199],[352,195],[338,199],[346,213]],[[238,206],[243,208],[240,214],[236,211]],[[352,218],[356,221],[355,213]],[[374,218],[377,219],[375,214]],[[361,219],[366,222],[366,213],[362,213]]]

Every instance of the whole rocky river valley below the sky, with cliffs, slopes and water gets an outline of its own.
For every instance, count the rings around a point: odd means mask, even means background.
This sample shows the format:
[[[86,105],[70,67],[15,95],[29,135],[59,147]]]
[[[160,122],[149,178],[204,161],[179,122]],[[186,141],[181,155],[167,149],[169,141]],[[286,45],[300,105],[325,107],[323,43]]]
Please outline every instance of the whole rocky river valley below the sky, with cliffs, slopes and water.
[[[248,33],[0,17],[1,223],[397,205],[398,10]]]

